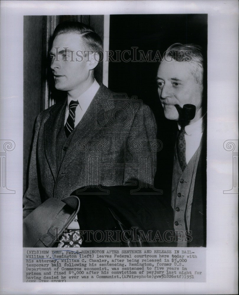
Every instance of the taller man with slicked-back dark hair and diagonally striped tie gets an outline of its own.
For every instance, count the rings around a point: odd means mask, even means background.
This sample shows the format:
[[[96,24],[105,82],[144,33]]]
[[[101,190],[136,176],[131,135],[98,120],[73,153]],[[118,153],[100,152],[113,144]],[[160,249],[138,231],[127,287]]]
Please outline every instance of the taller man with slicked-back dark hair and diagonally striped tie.
[[[67,91],[67,98],[37,117],[24,217],[46,199],[62,199],[84,186],[136,180],[152,184],[156,170],[152,111],[97,83],[94,69],[101,50],[99,35],[84,24],[65,22],[54,31],[51,69],[56,89]],[[151,158],[147,179],[140,177],[144,173],[139,145]],[[79,228],[77,220],[72,228]]]

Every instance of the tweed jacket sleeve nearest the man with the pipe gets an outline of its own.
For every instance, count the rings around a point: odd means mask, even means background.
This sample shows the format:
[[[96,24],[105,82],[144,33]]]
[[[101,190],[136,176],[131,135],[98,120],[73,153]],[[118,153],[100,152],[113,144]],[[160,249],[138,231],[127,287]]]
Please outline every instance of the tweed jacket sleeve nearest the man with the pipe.
[[[129,183],[130,180],[153,183],[157,168],[156,146],[155,117],[149,106],[143,104],[134,116],[129,136],[126,139],[124,183]]]

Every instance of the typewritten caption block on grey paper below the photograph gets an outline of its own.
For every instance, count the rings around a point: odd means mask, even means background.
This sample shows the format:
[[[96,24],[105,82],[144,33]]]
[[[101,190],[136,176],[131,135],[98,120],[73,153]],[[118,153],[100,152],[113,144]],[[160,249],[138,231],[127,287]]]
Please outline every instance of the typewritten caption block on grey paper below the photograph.
[[[23,281],[206,281],[206,248],[65,249],[23,248]]]

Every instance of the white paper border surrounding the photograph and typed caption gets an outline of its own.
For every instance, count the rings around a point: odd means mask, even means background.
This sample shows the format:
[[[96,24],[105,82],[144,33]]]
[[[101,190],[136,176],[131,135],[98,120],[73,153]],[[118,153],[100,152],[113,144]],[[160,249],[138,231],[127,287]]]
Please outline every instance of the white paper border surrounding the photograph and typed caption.
[[[1,1],[0,12],[0,139],[16,145],[9,151],[6,169],[7,186],[16,193],[0,194],[1,292],[237,294],[238,195],[223,193],[231,188],[233,177],[232,151],[223,143],[238,139],[238,1]],[[23,16],[185,13],[208,14],[206,283],[23,283]]]

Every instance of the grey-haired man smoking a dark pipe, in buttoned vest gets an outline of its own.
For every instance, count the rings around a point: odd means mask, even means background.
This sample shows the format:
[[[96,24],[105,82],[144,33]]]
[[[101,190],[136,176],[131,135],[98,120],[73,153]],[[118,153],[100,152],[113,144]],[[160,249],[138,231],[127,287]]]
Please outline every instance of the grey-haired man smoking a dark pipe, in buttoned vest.
[[[206,246],[207,129],[203,77],[201,48],[193,44],[171,45],[157,72],[164,115],[175,126],[165,123],[171,125],[171,130],[166,127],[165,137],[160,138],[165,154],[160,152],[156,179],[168,186],[168,191],[163,191],[170,196],[179,247]],[[184,112],[186,104],[190,104],[187,109],[195,109],[195,115]]]

